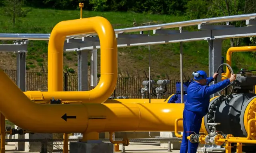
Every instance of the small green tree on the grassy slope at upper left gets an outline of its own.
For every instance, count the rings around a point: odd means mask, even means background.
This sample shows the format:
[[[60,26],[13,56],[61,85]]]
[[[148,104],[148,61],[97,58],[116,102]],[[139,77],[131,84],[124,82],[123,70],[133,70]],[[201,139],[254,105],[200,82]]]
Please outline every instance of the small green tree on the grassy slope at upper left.
[[[6,16],[12,17],[13,27],[15,27],[16,17],[26,17],[28,12],[31,9],[22,8],[23,0],[4,0],[2,3],[4,4],[4,14]]]

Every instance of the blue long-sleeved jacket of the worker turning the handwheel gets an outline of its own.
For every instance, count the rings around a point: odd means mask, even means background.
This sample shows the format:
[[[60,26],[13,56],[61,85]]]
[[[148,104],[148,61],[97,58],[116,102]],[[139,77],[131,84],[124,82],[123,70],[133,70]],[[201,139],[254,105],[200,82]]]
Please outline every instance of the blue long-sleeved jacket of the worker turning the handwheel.
[[[210,85],[213,81],[213,77],[207,78],[207,85],[201,85],[196,81],[193,81],[188,86],[187,101],[185,102],[185,109],[193,111],[194,113],[201,115],[202,117],[207,114],[210,103],[210,95],[220,91],[224,87],[230,84],[229,79]]]

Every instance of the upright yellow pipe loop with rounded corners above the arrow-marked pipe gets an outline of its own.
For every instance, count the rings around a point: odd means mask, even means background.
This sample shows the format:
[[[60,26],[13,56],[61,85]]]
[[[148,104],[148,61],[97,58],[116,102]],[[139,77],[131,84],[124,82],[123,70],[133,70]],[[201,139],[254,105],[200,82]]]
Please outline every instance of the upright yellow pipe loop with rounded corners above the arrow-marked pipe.
[[[100,39],[100,81],[90,91],[63,92],[63,49],[66,36],[97,33]],[[110,22],[103,17],[62,21],[52,30],[48,45],[48,91],[27,91],[30,99],[62,99],[103,103],[117,81],[117,40]]]

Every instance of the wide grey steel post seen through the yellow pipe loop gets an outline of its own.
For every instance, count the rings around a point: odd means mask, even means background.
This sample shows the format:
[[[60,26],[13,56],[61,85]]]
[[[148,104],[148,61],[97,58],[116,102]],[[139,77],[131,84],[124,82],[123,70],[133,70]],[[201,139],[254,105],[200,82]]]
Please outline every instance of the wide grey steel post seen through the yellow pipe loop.
[[[88,91],[88,51],[77,53],[78,91]]]

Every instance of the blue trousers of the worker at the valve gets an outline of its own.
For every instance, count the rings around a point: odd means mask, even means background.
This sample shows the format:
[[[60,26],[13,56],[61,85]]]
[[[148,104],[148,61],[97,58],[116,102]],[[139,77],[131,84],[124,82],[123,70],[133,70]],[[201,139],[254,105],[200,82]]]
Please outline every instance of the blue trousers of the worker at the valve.
[[[180,146],[180,153],[196,153],[198,143],[191,143],[187,136],[191,135],[191,131],[197,134],[200,131],[202,124],[202,116],[197,115],[193,111],[188,111],[184,109],[183,111],[183,136]]]

